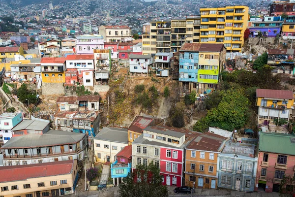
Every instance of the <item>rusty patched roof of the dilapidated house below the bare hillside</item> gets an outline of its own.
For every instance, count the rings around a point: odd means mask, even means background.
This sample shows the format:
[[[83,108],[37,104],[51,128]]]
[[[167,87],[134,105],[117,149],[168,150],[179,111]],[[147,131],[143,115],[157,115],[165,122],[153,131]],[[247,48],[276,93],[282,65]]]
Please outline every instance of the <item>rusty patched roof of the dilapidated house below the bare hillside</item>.
[[[83,119],[94,121],[98,116],[97,111],[58,111],[54,117],[68,118],[68,119]]]

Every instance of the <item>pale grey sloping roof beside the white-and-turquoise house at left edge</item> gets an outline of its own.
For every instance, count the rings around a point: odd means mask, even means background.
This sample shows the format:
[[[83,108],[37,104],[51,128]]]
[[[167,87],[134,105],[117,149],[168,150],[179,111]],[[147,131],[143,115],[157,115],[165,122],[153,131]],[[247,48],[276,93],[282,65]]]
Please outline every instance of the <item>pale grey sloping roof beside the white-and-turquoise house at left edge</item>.
[[[44,130],[47,125],[49,125],[49,121],[40,121],[40,120],[23,120],[17,126],[15,126],[12,131],[18,130],[37,130],[41,131]]]

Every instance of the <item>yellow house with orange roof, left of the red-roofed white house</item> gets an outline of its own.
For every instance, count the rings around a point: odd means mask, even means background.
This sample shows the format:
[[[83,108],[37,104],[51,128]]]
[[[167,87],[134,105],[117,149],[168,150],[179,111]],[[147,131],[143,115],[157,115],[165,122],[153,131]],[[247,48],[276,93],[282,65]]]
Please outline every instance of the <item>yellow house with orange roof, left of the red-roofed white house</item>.
[[[44,83],[65,82],[65,58],[42,58],[41,73]]]

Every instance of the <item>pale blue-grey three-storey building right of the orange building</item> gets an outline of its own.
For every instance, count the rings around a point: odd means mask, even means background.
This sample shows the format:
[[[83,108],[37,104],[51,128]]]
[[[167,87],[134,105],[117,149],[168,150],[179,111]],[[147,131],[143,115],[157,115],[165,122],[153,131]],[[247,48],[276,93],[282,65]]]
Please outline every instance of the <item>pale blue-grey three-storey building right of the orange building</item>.
[[[244,138],[241,138],[241,141],[244,141]],[[255,144],[227,141],[218,155],[218,187],[244,192],[254,191],[258,161],[255,149]]]

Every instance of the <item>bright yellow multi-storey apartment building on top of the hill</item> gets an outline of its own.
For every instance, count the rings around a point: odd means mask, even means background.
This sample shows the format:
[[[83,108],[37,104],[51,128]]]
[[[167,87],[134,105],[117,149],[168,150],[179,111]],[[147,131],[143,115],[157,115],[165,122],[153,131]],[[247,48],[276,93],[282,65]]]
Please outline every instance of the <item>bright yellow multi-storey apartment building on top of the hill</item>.
[[[201,43],[224,43],[227,52],[241,52],[244,31],[247,29],[249,8],[227,6],[200,8]]]

